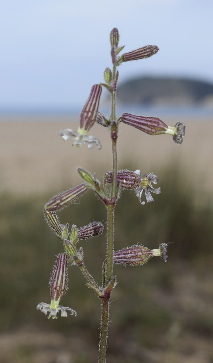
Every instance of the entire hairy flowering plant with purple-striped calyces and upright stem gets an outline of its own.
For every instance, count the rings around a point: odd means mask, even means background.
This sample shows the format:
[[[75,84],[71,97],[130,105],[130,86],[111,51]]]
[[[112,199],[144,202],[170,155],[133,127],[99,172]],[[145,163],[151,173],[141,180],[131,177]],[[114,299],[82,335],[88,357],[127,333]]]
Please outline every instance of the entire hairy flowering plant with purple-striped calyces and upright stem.
[[[59,240],[62,241],[64,252],[57,257],[56,264],[50,280],[50,296],[51,302],[41,302],[37,305],[37,309],[41,310],[45,315],[49,313],[48,318],[57,318],[59,311],[62,317],[70,315],[77,316],[75,310],[70,307],[59,305],[60,300],[67,290],[67,266],[77,265],[87,279],[87,286],[95,291],[95,294],[101,301],[101,326],[100,326],[100,342],[99,342],[99,358],[98,362],[106,361],[107,336],[109,329],[109,302],[112,290],[116,286],[116,276],[113,276],[113,266],[139,266],[145,264],[153,256],[160,256],[163,261],[167,262],[167,244],[162,243],[157,249],[150,249],[139,244],[127,246],[119,251],[114,251],[114,209],[122,189],[134,189],[135,195],[141,204],[153,201],[151,193],[159,194],[160,188],[153,188],[158,179],[153,172],[140,176],[140,170],[119,170],[117,164],[116,143],[118,138],[118,129],[121,122],[126,125],[133,126],[138,130],[146,132],[149,135],[170,134],[176,144],[181,144],[184,137],[185,125],[182,122],[176,123],[175,126],[167,126],[163,121],[156,117],[146,117],[131,115],[124,113],[121,117],[116,117],[116,89],[118,82],[117,67],[124,62],[140,60],[153,56],[158,52],[156,45],[147,45],[142,48],[133,50],[129,53],[119,55],[124,46],[119,46],[118,29],[114,28],[110,33],[112,70],[106,68],[104,71],[105,83],[93,85],[91,93],[80,115],[80,126],[78,131],[71,129],[59,131],[59,135],[66,141],[70,136],[74,137],[74,146],[81,147],[87,143],[88,148],[92,148],[96,144],[101,150],[100,141],[92,135],[88,135],[94,123],[98,123],[109,132],[112,140],[112,171],[106,172],[103,176],[103,188],[96,175],[92,175],[89,171],[81,167],[77,168],[78,174],[82,179],[82,183],[74,188],[68,189],[66,192],[59,193],[49,200],[44,207],[44,215],[49,227],[57,234]],[[99,101],[101,97],[102,87],[105,87],[111,96],[111,115],[107,119],[99,111]],[[68,207],[72,202],[87,192],[88,188],[93,189],[95,195],[105,204],[107,210],[107,237],[106,237],[106,258],[102,268],[102,285],[98,284],[89,274],[84,265],[83,248],[78,247],[78,242],[98,236],[103,232],[103,224],[101,222],[91,222],[89,225],[78,228],[76,225],[69,227],[69,224],[60,223],[57,211]],[[145,195],[145,196],[144,196]],[[144,196],[144,197],[143,197]]]

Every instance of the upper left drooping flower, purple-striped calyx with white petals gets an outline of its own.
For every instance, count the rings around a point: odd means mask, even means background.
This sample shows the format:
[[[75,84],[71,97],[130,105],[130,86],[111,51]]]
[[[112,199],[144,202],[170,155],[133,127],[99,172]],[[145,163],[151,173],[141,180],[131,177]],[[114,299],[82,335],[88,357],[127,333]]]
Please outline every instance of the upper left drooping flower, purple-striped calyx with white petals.
[[[91,129],[96,121],[101,91],[102,87],[100,85],[92,86],[89,98],[85,103],[80,116],[80,127],[78,128],[78,132],[71,129],[59,131],[59,135],[62,136],[64,141],[66,141],[70,136],[74,136],[75,142],[73,146],[80,147],[82,144],[87,142],[88,148],[92,149],[93,144],[96,144],[98,149],[101,150],[100,141],[95,136],[87,136],[87,132],[89,129]]]

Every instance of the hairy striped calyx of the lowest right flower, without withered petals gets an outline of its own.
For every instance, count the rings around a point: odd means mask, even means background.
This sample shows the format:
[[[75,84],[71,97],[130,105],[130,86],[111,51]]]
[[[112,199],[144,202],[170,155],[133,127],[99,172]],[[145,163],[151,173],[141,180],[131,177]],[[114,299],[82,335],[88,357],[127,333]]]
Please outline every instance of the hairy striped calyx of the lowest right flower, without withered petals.
[[[113,253],[113,263],[116,265],[139,266],[153,257],[153,251],[144,246],[131,246]]]

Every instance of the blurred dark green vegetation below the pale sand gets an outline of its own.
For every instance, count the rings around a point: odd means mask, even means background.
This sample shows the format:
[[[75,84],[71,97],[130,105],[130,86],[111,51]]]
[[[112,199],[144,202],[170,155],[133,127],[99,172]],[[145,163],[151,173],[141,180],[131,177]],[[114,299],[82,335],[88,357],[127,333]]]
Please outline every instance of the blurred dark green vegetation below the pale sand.
[[[114,356],[121,351],[125,353],[127,341],[147,348],[168,346],[169,342],[162,337],[174,322],[178,322],[181,331],[193,332],[197,336],[213,335],[213,312],[208,307],[213,303],[211,196],[208,203],[195,207],[195,193],[184,184],[179,170],[168,172],[167,169],[158,177],[162,193],[154,195],[152,203],[141,205],[134,191],[122,193],[116,207],[115,249],[135,243],[149,248],[158,248],[162,242],[178,244],[168,245],[167,264],[154,257],[143,266],[115,267],[119,284],[112,294],[111,347],[108,350]],[[96,347],[100,302],[84,285],[85,278],[77,266],[68,269],[69,289],[61,303],[75,309],[78,317],[68,315],[67,319],[48,320],[36,310],[39,302],[50,302],[50,274],[57,254],[63,252],[62,243],[43,218],[43,205],[52,195],[0,197],[1,330],[11,331],[32,325],[45,331],[73,331],[76,334],[83,331],[91,346]],[[88,191],[80,203],[64,209],[58,216],[61,223],[69,222],[78,227],[93,220],[105,225],[106,209],[93,192]],[[99,282],[105,258],[105,236],[106,225],[102,236],[79,244],[84,248],[85,265]],[[192,275],[195,284],[191,295],[188,287],[185,289],[195,304],[185,307],[183,276],[187,279]],[[180,301],[176,299],[177,294],[181,295]],[[203,309],[196,305],[198,297],[204,301]],[[138,359],[136,357],[131,362],[141,361]],[[85,361],[89,362],[89,358]]]

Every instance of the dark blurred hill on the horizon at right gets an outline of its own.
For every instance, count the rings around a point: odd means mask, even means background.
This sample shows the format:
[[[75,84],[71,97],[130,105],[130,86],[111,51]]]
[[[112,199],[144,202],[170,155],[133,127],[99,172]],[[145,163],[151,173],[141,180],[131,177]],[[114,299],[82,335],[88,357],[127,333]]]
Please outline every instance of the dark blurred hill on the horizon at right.
[[[203,104],[213,101],[213,85],[184,78],[143,77],[118,87],[120,103]]]

